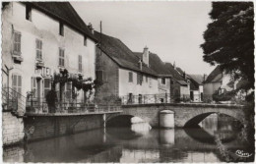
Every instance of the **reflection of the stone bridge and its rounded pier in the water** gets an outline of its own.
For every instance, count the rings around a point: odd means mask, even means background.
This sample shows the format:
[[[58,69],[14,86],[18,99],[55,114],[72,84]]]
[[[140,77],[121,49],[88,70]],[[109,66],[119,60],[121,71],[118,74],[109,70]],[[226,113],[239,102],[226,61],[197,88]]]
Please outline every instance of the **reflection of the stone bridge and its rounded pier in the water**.
[[[120,142],[124,148],[129,149],[156,149],[160,146],[165,147],[164,149],[166,150],[181,149],[199,152],[214,151],[218,149],[216,143],[201,142],[189,137],[182,129],[152,130],[148,135],[144,136],[138,136],[138,134],[132,135],[132,133],[130,133],[130,136],[134,136],[130,137],[131,139],[124,139],[112,134],[116,135],[116,132],[115,129],[111,130],[110,128],[106,135],[107,142]],[[241,144],[237,139],[233,139],[229,142],[224,142],[224,146],[229,150],[236,150],[243,147],[243,144]]]

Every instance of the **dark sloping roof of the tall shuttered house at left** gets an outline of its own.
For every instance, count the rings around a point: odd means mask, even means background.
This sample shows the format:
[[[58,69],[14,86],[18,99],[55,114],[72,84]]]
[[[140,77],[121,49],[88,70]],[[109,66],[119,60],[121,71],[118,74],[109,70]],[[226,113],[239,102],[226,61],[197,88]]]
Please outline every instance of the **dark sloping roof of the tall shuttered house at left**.
[[[73,27],[83,34],[96,41],[95,36],[87,27],[84,21],[77,14],[75,9],[69,2],[23,2],[31,4],[33,8],[43,12],[44,14],[63,22],[63,24]]]

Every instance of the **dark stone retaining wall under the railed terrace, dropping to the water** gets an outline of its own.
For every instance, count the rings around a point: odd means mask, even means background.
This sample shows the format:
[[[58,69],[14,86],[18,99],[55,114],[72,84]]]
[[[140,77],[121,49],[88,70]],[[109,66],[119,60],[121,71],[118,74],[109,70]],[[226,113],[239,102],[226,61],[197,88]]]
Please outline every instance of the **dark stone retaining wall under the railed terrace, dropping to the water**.
[[[33,127],[29,140],[36,140],[97,129],[103,126],[103,119],[102,115],[28,116],[25,126]]]

